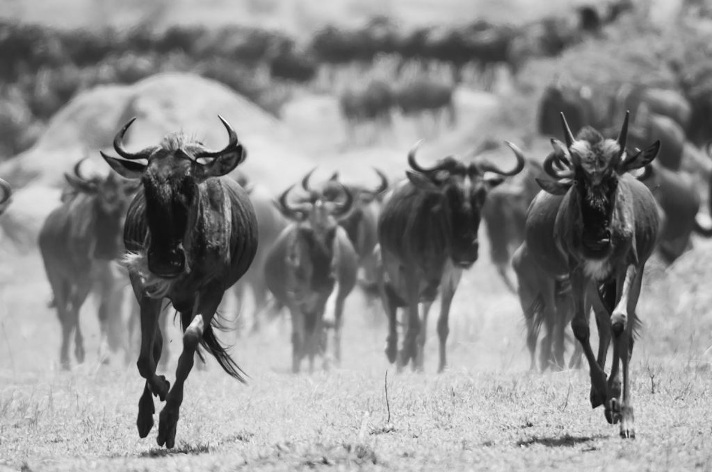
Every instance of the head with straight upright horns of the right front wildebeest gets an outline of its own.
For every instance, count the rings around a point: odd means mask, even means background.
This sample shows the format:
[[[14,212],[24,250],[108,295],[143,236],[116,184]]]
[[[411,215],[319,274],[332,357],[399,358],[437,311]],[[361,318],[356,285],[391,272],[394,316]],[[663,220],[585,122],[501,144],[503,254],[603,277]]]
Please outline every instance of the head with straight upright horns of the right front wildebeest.
[[[582,250],[586,257],[599,258],[611,247],[611,230],[619,193],[619,177],[642,168],[658,154],[660,141],[645,151],[626,151],[629,113],[626,113],[617,139],[606,139],[592,127],[583,127],[576,137],[561,114],[566,144],[552,139],[554,152],[544,163],[545,171],[557,181],[538,179],[548,193],[564,195],[575,191],[580,212]]]

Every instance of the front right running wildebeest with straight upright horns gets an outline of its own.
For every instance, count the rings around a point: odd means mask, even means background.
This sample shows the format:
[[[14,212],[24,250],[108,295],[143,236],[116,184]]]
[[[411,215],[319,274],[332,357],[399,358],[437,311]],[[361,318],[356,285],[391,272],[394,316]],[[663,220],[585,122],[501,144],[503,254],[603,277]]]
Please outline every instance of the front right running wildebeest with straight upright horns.
[[[604,139],[592,127],[584,127],[574,136],[561,115],[565,144],[552,139],[555,153],[548,159],[567,168],[548,168],[557,180],[540,180],[544,191],[530,207],[525,230],[536,264],[551,277],[570,279],[574,301],[571,326],[589,364],[591,404],[604,404],[606,419],[612,424],[620,422],[622,437],[635,434],[629,361],[640,323],[636,306],[642,276],[660,226],[655,198],[629,173],[652,161],[660,143],[629,154],[628,116],[614,140]],[[604,306],[604,313],[597,313],[598,359],[589,339],[587,291],[600,297]],[[613,334],[614,348],[607,378],[604,365],[609,333]]]

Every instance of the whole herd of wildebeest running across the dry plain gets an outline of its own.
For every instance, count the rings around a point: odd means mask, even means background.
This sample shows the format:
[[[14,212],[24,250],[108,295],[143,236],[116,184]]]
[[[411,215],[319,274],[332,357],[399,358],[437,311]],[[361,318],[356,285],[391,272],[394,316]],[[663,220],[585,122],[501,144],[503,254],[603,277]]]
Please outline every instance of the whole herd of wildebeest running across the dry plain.
[[[451,89],[420,83],[422,93],[414,95],[434,100],[454,120]],[[414,103],[399,98],[412,90],[394,94],[384,82],[364,90],[342,96],[342,111],[354,122],[387,123],[383,109],[407,114]],[[316,182],[314,169],[278,195],[236,170],[247,150],[224,118],[223,149],[174,132],[138,151],[124,142],[131,119],[115,135],[118,157],[101,152],[111,169],[107,176],[85,175],[86,159],[66,173],[61,203],[39,234],[51,306],[61,323],[60,365],[70,368],[72,338],[76,362],[85,360],[79,311],[91,291],[100,297],[102,344],[116,344],[109,321],[128,279],[135,295],[129,325],[140,327],[137,367],[145,379],[137,429],[141,437],[150,433],[153,397],[164,401],[160,446],[174,447],[196,355],[207,351],[244,381],[216,336],[229,290],[240,306],[252,293],[254,331],[267,311],[288,312],[295,373],[305,359],[310,372],[317,358],[324,368],[340,363],[345,306],[359,288],[382,304],[389,363],[422,371],[429,311],[439,297],[438,370],[445,370],[451,303],[463,272],[478,259],[484,221],[491,259],[519,297],[531,369],[566,365],[570,323],[577,346],[568,364],[578,368],[585,357],[592,407],[603,406],[607,422],[619,424],[622,437],[634,437],[629,363],[644,318],[637,304],[645,296],[646,262],[657,252],[671,264],[693,233],[712,236],[712,227],[698,220],[702,199],[683,171],[688,141],[705,147],[712,136],[696,118],[704,103],[692,104],[673,90],[626,85],[604,115],[601,101],[587,87],[552,82],[536,123],[540,134],[551,136],[553,150],[543,159],[506,141],[514,159],[501,166],[486,154],[498,144],[486,140],[466,156],[426,165],[417,158],[419,143],[404,152],[407,169],[397,178],[375,168],[377,185],[347,184],[338,173]],[[0,188],[1,212],[11,188],[1,180]],[[167,355],[166,300],[184,332],[172,385],[157,373]],[[134,355],[130,342],[122,348],[127,358]]]

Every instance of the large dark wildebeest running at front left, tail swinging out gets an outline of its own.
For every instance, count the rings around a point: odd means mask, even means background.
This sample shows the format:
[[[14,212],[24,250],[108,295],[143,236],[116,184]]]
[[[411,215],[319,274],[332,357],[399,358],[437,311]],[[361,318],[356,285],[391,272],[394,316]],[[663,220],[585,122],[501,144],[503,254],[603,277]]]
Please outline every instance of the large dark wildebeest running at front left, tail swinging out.
[[[183,385],[199,344],[229,375],[244,382],[212,323],[224,291],[252,262],[257,219],[244,188],[226,177],[244,161],[246,152],[230,124],[223,117],[220,120],[229,136],[220,151],[209,151],[182,133],[172,133],[158,146],[129,152],[122,141],[135,121],[131,119],[114,138],[114,149],[123,159],[102,153],[114,171],[141,183],[124,230],[124,263],[141,307],[137,367],[146,379],[136,425],[139,436],[147,436],[155,412],[151,395],[165,399],[157,442],[168,448],[174,446]],[[183,352],[170,390],[166,378],[156,375],[163,343],[158,321],[164,298],[179,311],[184,329]]]

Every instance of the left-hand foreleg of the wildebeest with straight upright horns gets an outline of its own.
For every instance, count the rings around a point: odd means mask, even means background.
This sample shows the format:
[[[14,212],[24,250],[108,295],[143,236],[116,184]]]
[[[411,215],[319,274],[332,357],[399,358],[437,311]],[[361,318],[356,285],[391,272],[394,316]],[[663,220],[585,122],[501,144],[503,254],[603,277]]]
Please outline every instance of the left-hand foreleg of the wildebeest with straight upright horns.
[[[574,269],[571,273],[571,289],[574,297],[574,317],[571,320],[571,328],[574,336],[581,343],[583,353],[586,356],[588,367],[591,373],[591,406],[597,407],[598,399],[605,399],[606,395],[606,374],[598,365],[596,358],[593,355],[593,349],[590,342],[590,328],[588,326],[588,313],[586,311],[588,304],[586,303],[586,289],[588,285],[587,279],[582,274],[580,268]]]

